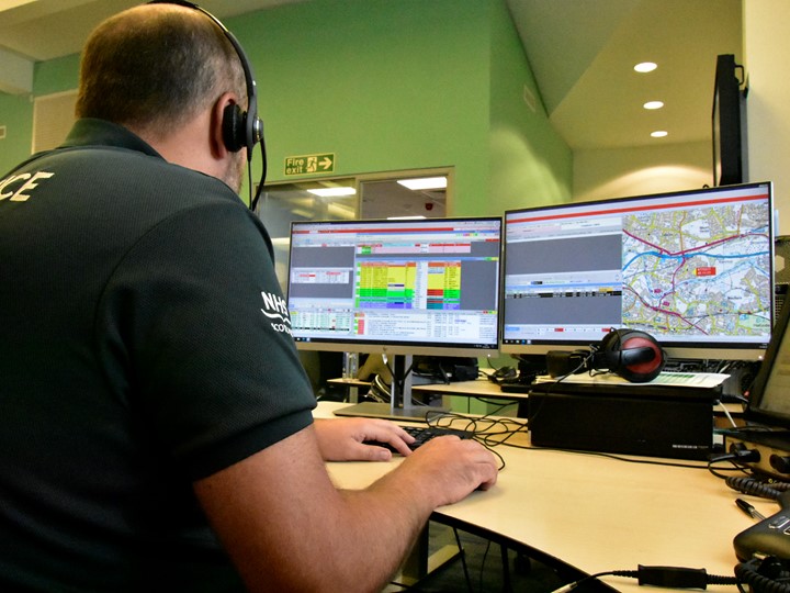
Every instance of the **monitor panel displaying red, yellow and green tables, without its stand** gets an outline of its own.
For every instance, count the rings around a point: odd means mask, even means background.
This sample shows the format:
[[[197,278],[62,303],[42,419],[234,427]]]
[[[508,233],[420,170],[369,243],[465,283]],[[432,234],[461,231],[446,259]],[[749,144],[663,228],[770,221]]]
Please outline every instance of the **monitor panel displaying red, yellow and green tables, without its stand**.
[[[293,223],[297,345],[496,350],[500,232],[499,217]]]

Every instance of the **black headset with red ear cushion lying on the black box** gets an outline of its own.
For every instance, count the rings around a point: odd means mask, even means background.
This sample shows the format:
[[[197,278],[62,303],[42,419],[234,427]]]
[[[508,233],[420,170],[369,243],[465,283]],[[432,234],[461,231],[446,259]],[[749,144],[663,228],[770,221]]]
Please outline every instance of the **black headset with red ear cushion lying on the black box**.
[[[589,350],[546,354],[552,377],[608,370],[632,383],[646,383],[658,377],[665,363],[666,355],[656,339],[637,329],[612,329]]]

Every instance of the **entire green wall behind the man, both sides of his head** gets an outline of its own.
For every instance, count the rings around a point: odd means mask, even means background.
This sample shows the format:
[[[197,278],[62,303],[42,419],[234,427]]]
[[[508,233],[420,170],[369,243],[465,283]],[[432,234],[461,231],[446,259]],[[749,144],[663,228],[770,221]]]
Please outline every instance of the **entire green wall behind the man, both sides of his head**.
[[[454,167],[455,215],[569,200],[571,152],[526,112],[534,82],[504,0],[312,0],[225,23],[258,81],[270,181],[286,156],[335,153],[335,176]],[[34,93],[76,88],[78,60],[38,64]],[[24,122],[7,170],[30,153],[32,102],[0,93],[2,120]]]

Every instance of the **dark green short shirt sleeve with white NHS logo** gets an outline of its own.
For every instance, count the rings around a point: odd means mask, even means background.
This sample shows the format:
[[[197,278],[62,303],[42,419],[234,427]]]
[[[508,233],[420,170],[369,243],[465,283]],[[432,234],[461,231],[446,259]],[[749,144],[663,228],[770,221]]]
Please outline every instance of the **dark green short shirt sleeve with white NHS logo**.
[[[194,206],[146,233],[102,299],[109,380],[193,480],[312,422],[269,245],[241,204]]]

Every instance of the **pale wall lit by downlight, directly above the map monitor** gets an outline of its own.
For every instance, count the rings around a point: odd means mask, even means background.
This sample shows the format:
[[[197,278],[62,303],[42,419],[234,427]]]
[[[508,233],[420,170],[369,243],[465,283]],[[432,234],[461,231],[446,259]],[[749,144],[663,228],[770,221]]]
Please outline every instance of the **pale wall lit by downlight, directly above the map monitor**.
[[[709,143],[574,152],[574,201],[601,200],[711,184]]]

